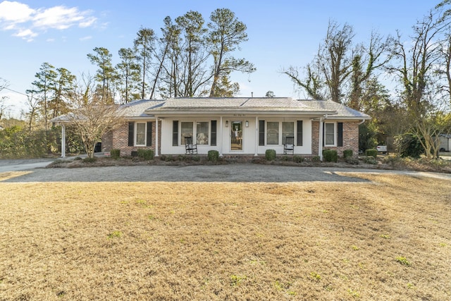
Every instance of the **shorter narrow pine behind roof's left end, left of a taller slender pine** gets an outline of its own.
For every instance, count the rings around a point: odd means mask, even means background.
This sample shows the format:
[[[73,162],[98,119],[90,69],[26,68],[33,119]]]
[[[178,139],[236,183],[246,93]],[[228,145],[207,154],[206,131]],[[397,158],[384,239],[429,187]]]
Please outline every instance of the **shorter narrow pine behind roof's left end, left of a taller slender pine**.
[[[119,88],[121,103],[127,103],[140,97],[141,68],[137,63],[136,53],[131,48],[119,49],[119,58],[121,63],[116,65],[116,69],[118,70],[118,83],[121,85]]]

